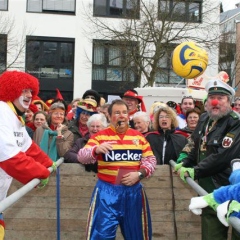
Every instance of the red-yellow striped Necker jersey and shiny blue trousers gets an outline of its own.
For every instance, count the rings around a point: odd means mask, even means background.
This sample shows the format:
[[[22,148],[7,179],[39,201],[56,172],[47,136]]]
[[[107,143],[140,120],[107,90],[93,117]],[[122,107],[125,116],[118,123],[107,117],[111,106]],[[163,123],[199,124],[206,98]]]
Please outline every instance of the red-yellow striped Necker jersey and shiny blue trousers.
[[[112,150],[96,155],[95,148],[104,142],[110,143]],[[116,183],[121,169],[136,172],[144,168],[146,177],[154,172],[156,158],[144,136],[131,128],[119,134],[110,126],[93,135],[78,157],[81,163],[98,162],[99,180],[92,194],[87,239],[115,239],[118,225],[125,239],[151,239],[151,217],[142,184]]]

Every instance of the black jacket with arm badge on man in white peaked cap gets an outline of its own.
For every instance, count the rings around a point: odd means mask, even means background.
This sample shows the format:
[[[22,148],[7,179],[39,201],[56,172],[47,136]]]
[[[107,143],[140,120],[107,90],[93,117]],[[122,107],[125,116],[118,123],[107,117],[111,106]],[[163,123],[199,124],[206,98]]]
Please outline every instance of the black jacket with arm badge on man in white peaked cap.
[[[218,188],[229,184],[230,162],[240,157],[240,121],[234,111],[219,119],[207,135],[206,157],[200,161],[200,145],[208,121],[208,114],[203,113],[191,136],[194,148],[183,160],[183,166],[194,167],[196,179],[212,177]]]

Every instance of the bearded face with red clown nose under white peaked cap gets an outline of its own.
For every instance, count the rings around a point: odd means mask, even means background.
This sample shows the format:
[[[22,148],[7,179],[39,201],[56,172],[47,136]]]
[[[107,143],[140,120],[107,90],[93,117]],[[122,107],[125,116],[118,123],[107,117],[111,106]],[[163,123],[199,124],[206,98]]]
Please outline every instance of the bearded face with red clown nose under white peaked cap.
[[[217,104],[212,104],[212,101],[217,101]],[[218,120],[231,111],[231,105],[227,95],[214,94],[208,96],[207,99],[207,112],[209,117],[213,120]]]

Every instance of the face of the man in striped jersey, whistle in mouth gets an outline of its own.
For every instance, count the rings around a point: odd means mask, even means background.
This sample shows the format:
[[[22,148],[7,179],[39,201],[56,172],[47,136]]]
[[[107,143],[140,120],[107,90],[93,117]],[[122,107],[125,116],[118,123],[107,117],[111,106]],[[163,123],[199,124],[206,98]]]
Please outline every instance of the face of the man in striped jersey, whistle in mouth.
[[[118,133],[124,133],[126,131],[128,128],[128,110],[124,104],[113,105],[110,122]]]

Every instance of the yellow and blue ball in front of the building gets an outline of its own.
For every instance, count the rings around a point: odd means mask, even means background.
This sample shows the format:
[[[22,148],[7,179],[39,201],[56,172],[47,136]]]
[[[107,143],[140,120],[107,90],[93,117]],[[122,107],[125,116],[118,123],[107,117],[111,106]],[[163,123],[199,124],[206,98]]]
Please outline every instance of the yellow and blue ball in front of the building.
[[[172,54],[173,71],[185,79],[203,74],[208,64],[208,53],[194,42],[179,44]]]

